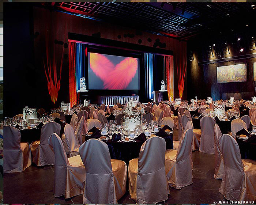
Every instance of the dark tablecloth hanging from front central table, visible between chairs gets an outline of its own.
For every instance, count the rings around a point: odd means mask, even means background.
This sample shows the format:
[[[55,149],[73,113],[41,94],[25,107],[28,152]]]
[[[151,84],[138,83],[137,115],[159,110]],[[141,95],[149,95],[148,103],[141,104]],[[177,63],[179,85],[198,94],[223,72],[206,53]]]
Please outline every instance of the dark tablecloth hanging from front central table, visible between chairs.
[[[166,142],[166,149],[173,149],[173,133],[167,137],[163,137]],[[85,140],[89,140],[90,136],[86,136]],[[136,138],[135,138],[136,139]],[[131,159],[139,157],[140,147],[144,143],[143,141],[130,141],[130,142],[112,142],[111,140],[105,141],[109,147],[109,153],[111,159],[123,160],[126,164],[129,164]]]

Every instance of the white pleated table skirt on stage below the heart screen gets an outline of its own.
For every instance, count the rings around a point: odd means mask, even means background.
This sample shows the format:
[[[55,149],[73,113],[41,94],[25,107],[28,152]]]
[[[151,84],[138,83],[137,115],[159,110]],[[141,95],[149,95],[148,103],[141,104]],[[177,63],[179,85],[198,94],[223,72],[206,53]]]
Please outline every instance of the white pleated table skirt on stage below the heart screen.
[[[139,96],[100,96],[99,102],[105,105],[116,105],[116,103],[125,104],[131,99],[137,100],[139,102]]]

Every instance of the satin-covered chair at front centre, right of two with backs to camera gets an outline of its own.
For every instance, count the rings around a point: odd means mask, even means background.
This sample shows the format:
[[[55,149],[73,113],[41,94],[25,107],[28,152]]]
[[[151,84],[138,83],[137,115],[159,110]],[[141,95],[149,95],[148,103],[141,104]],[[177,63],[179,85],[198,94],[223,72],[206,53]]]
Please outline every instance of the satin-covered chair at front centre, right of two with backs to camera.
[[[148,138],[139,158],[129,161],[129,193],[136,204],[157,204],[170,193],[165,174],[166,143],[162,137]]]

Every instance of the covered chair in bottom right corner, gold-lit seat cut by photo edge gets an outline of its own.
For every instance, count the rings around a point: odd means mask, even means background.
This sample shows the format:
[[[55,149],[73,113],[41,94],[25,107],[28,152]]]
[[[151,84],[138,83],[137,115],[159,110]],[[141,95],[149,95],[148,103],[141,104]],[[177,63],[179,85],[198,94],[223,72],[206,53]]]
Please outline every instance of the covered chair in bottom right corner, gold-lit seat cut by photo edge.
[[[256,161],[241,159],[236,140],[229,134],[219,137],[219,147],[225,164],[219,192],[231,201],[256,200]]]

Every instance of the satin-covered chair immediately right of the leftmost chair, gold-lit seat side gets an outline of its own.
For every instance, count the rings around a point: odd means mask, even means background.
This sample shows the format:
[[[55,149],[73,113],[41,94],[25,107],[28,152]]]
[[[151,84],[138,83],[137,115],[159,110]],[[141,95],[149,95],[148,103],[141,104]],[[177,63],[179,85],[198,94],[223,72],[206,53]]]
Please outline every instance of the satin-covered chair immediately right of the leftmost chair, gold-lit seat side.
[[[60,124],[48,122],[42,126],[40,140],[30,144],[33,163],[38,167],[54,164],[54,153],[48,144],[48,139],[53,133],[60,134]]]

